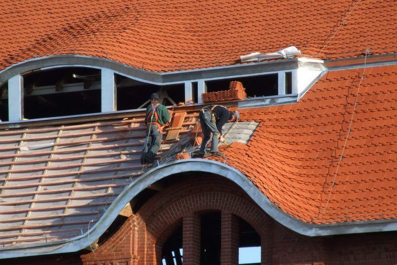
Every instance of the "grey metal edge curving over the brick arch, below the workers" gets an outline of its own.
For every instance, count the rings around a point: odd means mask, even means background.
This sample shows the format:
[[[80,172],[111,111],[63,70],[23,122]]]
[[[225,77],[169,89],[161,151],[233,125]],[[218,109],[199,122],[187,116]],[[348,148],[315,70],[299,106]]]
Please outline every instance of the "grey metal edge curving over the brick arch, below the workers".
[[[214,173],[239,185],[268,215],[283,226],[306,236],[327,236],[350,233],[367,233],[397,230],[397,220],[372,220],[344,222],[336,224],[311,225],[298,220],[275,206],[252,182],[240,171],[217,161],[206,159],[185,159],[170,162],[154,168],[133,181],[117,196],[112,205],[98,222],[85,234],[65,240],[63,244],[36,244],[26,248],[0,249],[0,258],[35,256],[45,254],[79,251],[89,246],[111,225],[121,209],[137,194],[154,182],[181,172]]]

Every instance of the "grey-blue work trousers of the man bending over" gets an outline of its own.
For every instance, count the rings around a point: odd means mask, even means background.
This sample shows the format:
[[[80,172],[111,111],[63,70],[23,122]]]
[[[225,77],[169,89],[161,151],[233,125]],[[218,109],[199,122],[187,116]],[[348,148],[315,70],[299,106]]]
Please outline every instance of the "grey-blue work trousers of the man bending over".
[[[216,128],[215,121],[211,121],[211,117],[212,117],[211,110],[202,109],[200,111],[200,125],[204,134],[199,151],[199,153],[201,154],[205,153],[205,148],[207,147],[208,140],[210,140],[211,138],[211,133],[212,133],[212,141],[211,141],[210,152],[218,151],[219,131]]]

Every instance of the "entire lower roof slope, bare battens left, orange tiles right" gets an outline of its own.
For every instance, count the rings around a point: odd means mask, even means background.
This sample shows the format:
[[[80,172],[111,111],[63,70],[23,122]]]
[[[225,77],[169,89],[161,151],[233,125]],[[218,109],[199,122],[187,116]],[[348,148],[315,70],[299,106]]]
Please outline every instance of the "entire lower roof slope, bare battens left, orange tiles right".
[[[218,160],[304,222],[395,219],[396,92],[397,66],[329,72],[296,104],[239,110]],[[199,109],[174,110],[180,140],[163,142],[160,163],[191,147]],[[148,170],[139,164],[145,125],[135,116],[1,131],[0,244],[59,241],[95,225]]]

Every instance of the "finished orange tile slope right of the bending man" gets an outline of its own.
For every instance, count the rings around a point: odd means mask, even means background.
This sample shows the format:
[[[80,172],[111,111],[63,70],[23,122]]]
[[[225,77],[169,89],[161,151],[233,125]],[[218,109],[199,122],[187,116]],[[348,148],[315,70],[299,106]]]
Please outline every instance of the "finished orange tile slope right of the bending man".
[[[226,164],[308,223],[397,219],[396,95],[396,65],[328,72],[296,104],[242,109],[260,124]]]

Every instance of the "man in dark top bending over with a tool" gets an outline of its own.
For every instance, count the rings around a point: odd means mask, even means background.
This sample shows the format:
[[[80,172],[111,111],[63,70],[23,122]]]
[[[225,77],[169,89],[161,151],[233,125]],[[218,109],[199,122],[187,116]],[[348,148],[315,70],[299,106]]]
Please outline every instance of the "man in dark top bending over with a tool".
[[[237,111],[228,111],[226,107],[220,105],[210,105],[201,109],[200,114],[200,125],[203,131],[204,137],[201,142],[200,151],[195,157],[203,156],[225,156],[218,150],[218,142],[223,142],[222,127],[229,121],[236,121],[239,118]],[[211,150],[210,153],[206,153],[207,142],[211,138]]]

